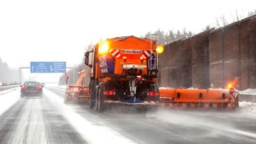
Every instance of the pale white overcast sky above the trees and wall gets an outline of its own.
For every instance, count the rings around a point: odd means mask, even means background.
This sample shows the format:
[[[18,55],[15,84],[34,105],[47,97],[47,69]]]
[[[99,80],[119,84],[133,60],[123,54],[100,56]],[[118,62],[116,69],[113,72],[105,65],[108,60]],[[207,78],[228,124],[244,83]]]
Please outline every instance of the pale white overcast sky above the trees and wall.
[[[10,67],[31,61],[82,62],[100,39],[149,31],[200,33],[216,17],[229,21],[256,9],[255,0],[0,0],[0,57]]]

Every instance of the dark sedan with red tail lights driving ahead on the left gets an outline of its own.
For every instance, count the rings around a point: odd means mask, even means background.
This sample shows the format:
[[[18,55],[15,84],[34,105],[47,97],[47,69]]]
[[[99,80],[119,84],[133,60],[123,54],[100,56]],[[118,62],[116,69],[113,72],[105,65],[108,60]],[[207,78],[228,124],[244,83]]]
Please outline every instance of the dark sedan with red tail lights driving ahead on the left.
[[[21,85],[21,97],[23,96],[43,96],[43,86],[39,82],[24,82]]]

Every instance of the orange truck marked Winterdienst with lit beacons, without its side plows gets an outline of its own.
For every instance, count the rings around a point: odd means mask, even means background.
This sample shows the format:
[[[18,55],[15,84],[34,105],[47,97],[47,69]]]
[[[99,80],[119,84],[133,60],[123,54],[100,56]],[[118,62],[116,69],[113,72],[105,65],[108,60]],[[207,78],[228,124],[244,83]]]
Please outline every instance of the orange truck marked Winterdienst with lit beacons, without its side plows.
[[[90,109],[103,111],[108,104],[157,107],[158,55],[156,40],[126,36],[110,38],[85,52],[91,68]]]

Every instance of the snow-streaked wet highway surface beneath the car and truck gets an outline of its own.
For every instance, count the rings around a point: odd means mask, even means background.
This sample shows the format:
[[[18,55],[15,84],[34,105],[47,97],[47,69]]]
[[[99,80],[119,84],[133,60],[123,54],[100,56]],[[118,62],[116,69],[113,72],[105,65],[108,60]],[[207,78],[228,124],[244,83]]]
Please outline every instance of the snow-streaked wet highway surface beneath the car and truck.
[[[95,113],[64,104],[64,89],[43,88],[43,98],[0,93],[0,143],[256,143],[255,104],[235,112],[139,113],[115,106]]]

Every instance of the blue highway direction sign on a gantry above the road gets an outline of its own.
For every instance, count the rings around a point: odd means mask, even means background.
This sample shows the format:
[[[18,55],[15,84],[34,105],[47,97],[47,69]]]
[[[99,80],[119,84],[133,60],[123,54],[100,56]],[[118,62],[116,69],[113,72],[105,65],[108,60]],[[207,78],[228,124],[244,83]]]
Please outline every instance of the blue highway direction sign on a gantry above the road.
[[[31,62],[31,73],[65,72],[66,62]]]

